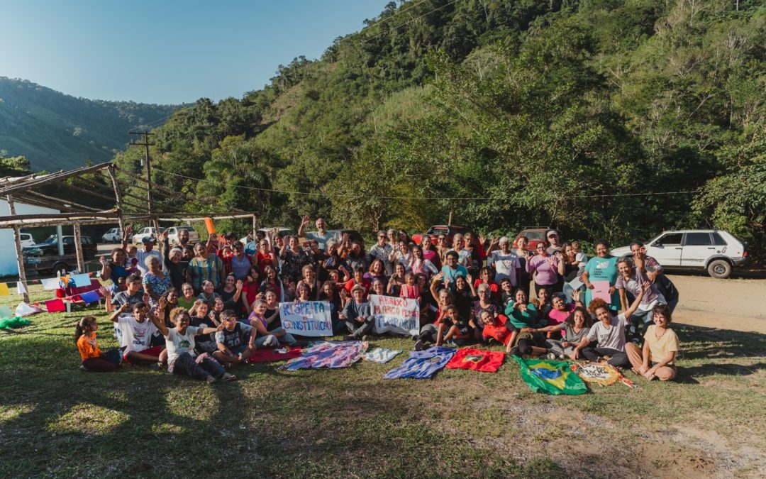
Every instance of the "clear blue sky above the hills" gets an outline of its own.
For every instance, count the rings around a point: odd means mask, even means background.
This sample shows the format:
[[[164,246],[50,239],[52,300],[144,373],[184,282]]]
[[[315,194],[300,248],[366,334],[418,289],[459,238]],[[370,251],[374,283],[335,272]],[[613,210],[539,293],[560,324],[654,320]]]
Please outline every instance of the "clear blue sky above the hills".
[[[75,97],[183,103],[258,90],[388,0],[0,0],[0,76]]]

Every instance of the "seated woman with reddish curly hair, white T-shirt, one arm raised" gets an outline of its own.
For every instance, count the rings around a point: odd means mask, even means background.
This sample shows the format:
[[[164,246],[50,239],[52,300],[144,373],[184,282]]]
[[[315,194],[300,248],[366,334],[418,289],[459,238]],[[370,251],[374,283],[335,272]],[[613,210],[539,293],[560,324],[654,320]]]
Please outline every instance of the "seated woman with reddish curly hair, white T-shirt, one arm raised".
[[[603,363],[611,366],[627,367],[630,361],[625,353],[625,326],[627,326],[630,317],[636,312],[643,295],[649,289],[649,283],[644,283],[640,293],[627,311],[620,313],[616,317],[607,306],[606,301],[601,298],[592,300],[588,305],[588,310],[596,317],[598,323],[595,323],[584,341],[596,342],[596,345],[587,346],[582,349],[582,356],[588,361]]]

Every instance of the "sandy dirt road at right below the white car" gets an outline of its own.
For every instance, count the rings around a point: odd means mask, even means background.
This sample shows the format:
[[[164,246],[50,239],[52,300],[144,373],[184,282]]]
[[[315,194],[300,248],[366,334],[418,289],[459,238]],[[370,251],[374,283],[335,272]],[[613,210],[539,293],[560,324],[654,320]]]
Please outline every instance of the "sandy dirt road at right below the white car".
[[[766,333],[766,280],[668,277],[680,292],[673,322]]]

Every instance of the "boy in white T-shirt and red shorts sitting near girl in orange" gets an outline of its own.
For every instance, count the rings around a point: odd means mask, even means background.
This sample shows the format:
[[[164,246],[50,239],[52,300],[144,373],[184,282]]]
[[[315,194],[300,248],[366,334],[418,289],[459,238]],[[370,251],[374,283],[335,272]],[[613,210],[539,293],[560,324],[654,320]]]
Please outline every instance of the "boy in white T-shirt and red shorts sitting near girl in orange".
[[[123,333],[122,344],[125,356],[123,359],[130,364],[152,364],[159,362],[159,354],[165,346],[152,346],[152,336],[158,332],[151,322],[146,320],[149,306],[143,301],[133,303],[133,316],[125,314],[131,307],[130,303],[122,306],[112,314],[110,320],[119,324]]]

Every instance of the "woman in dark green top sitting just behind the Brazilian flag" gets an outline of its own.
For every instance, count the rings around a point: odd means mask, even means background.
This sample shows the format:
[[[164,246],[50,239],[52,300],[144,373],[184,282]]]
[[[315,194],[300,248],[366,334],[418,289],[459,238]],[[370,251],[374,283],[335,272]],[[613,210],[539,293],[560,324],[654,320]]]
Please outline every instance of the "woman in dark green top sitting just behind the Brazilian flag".
[[[506,328],[512,333],[506,343],[506,353],[513,356],[536,356],[545,353],[545,336],[532,333],[532,328],[545,326],[538,319],[535,303],[529,303],[526,291],[516,290],[514,300],[506,307]]]

